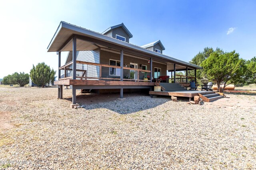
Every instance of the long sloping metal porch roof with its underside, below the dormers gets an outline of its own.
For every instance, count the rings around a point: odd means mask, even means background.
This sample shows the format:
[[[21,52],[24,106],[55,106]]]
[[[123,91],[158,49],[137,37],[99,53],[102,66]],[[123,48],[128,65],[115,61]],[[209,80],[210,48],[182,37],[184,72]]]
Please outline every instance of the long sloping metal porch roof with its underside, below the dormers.
[[[195,64],[187,63],[185,61],[175,59],[175,58],[167,56],[167,55],[156,53],[154,51],[144,49],[144,48],[142,48],[138,45],[133,45],[131,43],[127,43],[127,42],[121,41],[119,39],[115,39],[115,38],[109,37],[107,35],[103,35],[102,33],[97,33],[95,31],[91,31],[89,29],[78,27],[78,26],[72,25],[70,23],[66,23],[64,21],[60,22],[60,25],[58,26],[58,29],[54,33],[54,36],[52,37],[52,40],[50,41],[50,44],[47,47],[48,52],[58,51],[58,49],[60,49],[60,47],[64,44],[64,42],[72,34],[78,34],[78,35],[83,35],[83,36],[87,36],[87,37],[93,37],[95,39],[99,39],[99,40],[102,40],[102,41],[106,41],[108,43],[119,45],[121,47],[126,47],[128,49],[132,49],[134,51],[140,51],[142,53],[152,55],[152,56],[157,57],[159,59],[166,59],[170,62],[176,62],[176,63],[184,64],[187,67],[202,69],[202,67],[197,66]],[[78,44],[78,42],[77,42],[77,44]],[[84,49],[84,50],[86,50],[86,49]],[[72,48],[71,49],[66,49],[66,51],[72,51]],[[83,50],[81,49],[81,50],[78,50],[78,51],[83,51]]]

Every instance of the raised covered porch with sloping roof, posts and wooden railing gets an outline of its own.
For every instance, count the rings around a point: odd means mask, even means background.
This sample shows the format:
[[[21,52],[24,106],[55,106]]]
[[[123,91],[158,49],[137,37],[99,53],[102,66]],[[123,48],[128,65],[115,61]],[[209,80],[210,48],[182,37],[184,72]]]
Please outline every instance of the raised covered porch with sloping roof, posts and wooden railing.
[[[77,60],[77,51],[92,51],[102,49],[119,55],[120,64],[110,65]],[[61,66],[62,51],[70,51],[72,61]],[[196,70],[200,67],[186,62],[143,49],[136,45],[90,31],[76,25],[61,22],[52,41],[48,46],[48,52],[57,52],[58,55],[58,98],[62,98],[63,85],[72,88],[72,104],[76,104],[76,90],[78,89],[120,89],[120,98],[123,98],[125,88],[148,88],[154,87],[153,78],[155,71],[153,63],[164,64],[166,69],[162,72],[173,71],[171,79],[176,82],[176,70]],[[130,57],[130,62],[140,59],[148,63],[146,69],[127,66],[124,56]],[[103,70],[119,72],[118,76],[103,75]],[[126,76],[124,72],[132,72],[134,76]],[[131,75],[132,75],[131,74]],[[166,73],[162,73],[166,75]],[[148,80],[144,79],[147,78]],[[186,77],[188,82],[188,76]]]

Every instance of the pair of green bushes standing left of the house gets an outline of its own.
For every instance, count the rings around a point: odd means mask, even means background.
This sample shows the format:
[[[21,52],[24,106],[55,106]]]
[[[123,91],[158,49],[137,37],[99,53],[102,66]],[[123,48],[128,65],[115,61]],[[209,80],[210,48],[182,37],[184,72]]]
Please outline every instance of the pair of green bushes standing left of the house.
[[[33,64],[33,68],[30,70],[30,74],[25,74],[24,72],[14,72],[3,78],[3,84],[18,84],[20,87],[25,86],[29,83],[29,77],[32,82],[38,86],[46,86],[50,82],[54,82],[54,76],[56,71],[50,68],[50,66],[45,63],[38,63],[36,66]]]

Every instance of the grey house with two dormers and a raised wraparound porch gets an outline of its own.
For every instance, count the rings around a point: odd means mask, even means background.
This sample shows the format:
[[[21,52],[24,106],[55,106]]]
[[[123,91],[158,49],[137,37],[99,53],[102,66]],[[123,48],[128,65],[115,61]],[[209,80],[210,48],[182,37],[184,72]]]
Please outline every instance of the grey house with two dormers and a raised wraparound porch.
[[[62,86],[70,85],[73,104],[77,89],[120,89],[123,98],[123,89],[154,88],[154,80],[167,71],[174,72],[171,79],[176,82],[176,71],[201,69],[163,55],[160,40],[137,46],[130,43],[132,36],[124,23],[97,33],[61,21],[48,45],[48,52],[59,57],[59,79],[54,82],[58,97],[62,98]],[[62,51],[69,51],[64,66],[60,65]],[[188,82],[187,74],[185,79]]]

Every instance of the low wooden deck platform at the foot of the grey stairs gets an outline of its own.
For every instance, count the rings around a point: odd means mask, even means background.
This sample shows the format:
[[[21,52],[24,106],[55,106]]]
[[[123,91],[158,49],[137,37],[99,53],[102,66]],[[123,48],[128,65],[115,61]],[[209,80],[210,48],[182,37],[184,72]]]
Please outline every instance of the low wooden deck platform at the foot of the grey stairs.
[[[176,92],[155,92],[150,91],[150,95],[161,95],[161,96],[176,96],[176,97],[187,97],[194,98],[194,96],[198,96],[198,94],[213,94],[215,92],[212,91],[198,91],[198,90],[187,90],[187,91],[176,91]]]

